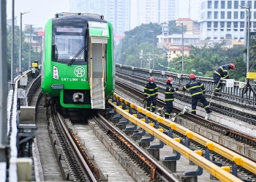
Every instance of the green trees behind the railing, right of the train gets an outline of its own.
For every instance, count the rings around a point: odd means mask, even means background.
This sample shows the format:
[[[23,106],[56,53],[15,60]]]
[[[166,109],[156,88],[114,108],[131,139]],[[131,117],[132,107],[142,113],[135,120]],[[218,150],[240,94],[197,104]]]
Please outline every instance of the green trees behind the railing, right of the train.
[[[164,24],[164,23],[162,23]],[[181,26],[176,26],[176,21],[169,21],[169,34],[181,34]],[[162,34],[162,25],[157,23],[142,24],[135,27],[131,31],[125,32],[125,37],[115,48],[116,62],[129,66],[148,69],[148,54],[152,54],[153,41],[152,33],[154,31],[154,69],[165,70],[170,72],[181,72],[182,58],[181,56],[173,58],[170,63],[167,62],[166,53],[163,49],[158,49],[157,35]],[[140,58],[140,51],[143,50],[143,58]],[[198,76],[212,77],[217,67],[223,64],[233,63],[236,65],[234,71],[229,71],[230,78],[244,81],[246,78],[246,61],[243,56],[246,48],[225,48],[225,42],[217,43],[211,46],[197,48],[191,45],[189,56],[184,56],[184,73],[195,73]],[[249,71],[256,71],[256,39],[250,42],[249,50]],[[150,62],[152,67],[152,61]]]

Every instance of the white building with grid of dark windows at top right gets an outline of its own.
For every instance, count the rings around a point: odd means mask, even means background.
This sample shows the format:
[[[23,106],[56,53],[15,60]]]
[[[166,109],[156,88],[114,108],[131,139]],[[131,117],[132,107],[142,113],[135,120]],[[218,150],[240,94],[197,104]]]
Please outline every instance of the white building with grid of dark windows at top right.
[[[242,6],[242,7],[241,7]],[[247,12],[250,29],[256,29],[256,1],[202,0],[200,2],[200,39],[246,39]]]

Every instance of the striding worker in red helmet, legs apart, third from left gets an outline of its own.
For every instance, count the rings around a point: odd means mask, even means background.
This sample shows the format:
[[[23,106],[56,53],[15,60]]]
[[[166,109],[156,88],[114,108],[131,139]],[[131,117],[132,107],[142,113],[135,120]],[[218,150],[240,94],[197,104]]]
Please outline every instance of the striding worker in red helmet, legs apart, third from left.
[[[195,78],[195,74],[193,73],[189,75],[189,82],[186,84],[186,86],[183,87],[183,90],[186,91],[188,88],[192,96],[191,113],[196,115],[198,99],[203,103],[203,107],[205,108],[206,113],[211,113],[206,97],[204,96],[204,94],[206,94],[206,89],[203,86],[203,83]]]

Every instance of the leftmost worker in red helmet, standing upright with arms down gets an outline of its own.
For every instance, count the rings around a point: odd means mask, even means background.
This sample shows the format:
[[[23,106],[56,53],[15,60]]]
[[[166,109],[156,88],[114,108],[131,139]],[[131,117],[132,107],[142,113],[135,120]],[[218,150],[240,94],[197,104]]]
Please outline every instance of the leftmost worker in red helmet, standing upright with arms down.
[[[152,102],[152,112],[154,112],[157,108],[157,96],[158,96],[158,88],[157,84],[154,83],[154,77],[149,78],[149,82],[146,83],[144,88],[144,96],[147,100],[147,110],[150,110],[150,105]]]

